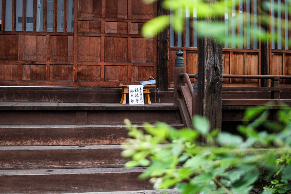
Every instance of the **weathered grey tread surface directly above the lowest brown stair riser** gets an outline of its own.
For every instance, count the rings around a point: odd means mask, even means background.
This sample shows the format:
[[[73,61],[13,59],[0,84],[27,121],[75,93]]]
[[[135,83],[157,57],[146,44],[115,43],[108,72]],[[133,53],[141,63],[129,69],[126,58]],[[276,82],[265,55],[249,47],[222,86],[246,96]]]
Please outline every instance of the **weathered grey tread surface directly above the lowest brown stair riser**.
[[[144,172],[146,167],[82,168],[82,169],[20,169],[0,170],[0,176],[13,175],[59,175],[59,174],[105,174]]]

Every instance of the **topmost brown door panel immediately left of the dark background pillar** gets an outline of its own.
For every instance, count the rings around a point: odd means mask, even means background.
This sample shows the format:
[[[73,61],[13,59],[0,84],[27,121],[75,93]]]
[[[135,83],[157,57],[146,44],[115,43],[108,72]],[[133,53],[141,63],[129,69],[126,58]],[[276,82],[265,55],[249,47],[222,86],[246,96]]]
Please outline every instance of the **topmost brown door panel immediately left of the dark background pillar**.
[[[134,19],[151,19],[154,17],[154,4],[147,4],[142,0],[133,0],[131,16]]]

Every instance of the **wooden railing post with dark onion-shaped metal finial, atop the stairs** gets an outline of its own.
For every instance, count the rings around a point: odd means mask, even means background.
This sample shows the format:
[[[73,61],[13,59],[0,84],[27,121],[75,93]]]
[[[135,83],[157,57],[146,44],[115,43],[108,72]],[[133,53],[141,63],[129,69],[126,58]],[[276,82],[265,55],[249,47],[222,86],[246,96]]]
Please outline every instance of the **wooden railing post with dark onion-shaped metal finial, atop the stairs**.
[[[174,106],[177,106],[177,100],[182,98],[181,92],[178,92],[179,86],[185,85],[185,78],[180,78],[180,74],[185,73],[183,51],[176,52],[175,68],[174,68]]]

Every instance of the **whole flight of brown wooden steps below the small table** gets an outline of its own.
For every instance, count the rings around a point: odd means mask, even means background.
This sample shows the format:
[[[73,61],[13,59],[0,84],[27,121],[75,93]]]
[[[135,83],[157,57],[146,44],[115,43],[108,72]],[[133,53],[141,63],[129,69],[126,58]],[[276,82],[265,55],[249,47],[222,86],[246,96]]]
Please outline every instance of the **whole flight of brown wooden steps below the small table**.
[[[184,127],[173,104],[0,102],[0,193],[152,189],[145,167],[124,167],[125,118]]]

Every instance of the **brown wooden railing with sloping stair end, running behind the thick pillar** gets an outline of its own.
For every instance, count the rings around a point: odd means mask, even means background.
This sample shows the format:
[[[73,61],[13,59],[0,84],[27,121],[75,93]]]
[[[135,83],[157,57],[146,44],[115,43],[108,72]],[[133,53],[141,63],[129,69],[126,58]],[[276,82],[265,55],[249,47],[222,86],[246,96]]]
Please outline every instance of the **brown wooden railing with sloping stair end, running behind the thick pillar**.
[[[181,51],[182,52],[182,51]],[[182,53],[177,52],[178,60],[181,62]],[[179,58],[180,57],[180,58]],[[177,59],[176,58],[176,59]],[[182,60],[183,61],[183,60]],[[176,60],[177,62],[177,60]],[[174,70],[174,105],[178,106],[184,122],[185,127],[192,127],[191,118],[197,113],[197,93],[194,93],[193,85],[190,78],[195,77],[196,74],[185,73],[185,68],[178,64],[175,64]],[[281,76],[281,75],[222,75],[223,78],[243,78],[243,79],[271,79],[271,87],[237,87],[237,86],[223,86],[222,91],[230,92],[271,92],[270,99],[225,99],[224,101],[229,106],[248,106],[248,105],[262,105],[269,100],[276,101],[280,99],[280,92],[291,92],[291,87],[280,87],[280,79],[291,79],[291,76]],[[186,86],[187,84],[187,86]],[[291,99],[291,97],[290,97]],[[219,99],[218,99],[219,100]],[[224,102],[222,99],[222,102]],[[251,103],[249,101],[252,101]],[[223,103],[222,103],[223,104]],[[279,104],[277,102],[277,104]]]

